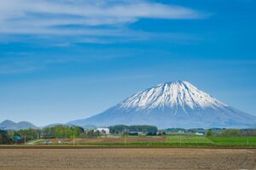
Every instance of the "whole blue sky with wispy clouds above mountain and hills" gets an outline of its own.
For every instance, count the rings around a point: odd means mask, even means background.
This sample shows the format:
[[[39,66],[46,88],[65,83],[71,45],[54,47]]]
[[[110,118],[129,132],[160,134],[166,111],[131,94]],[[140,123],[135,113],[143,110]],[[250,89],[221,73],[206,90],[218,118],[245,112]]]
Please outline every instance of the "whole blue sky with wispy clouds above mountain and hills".
[[[100,113],[185,80],[256,116],[250,0],[0,2],[0,122],[38,126]]]

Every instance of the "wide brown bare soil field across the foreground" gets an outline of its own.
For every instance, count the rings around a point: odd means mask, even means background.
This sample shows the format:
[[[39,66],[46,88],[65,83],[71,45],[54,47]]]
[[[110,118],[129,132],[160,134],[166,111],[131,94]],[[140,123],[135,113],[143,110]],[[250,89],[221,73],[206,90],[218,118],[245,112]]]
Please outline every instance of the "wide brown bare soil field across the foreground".
[[[256,169],[254,149],[0,149],[0,170]]]

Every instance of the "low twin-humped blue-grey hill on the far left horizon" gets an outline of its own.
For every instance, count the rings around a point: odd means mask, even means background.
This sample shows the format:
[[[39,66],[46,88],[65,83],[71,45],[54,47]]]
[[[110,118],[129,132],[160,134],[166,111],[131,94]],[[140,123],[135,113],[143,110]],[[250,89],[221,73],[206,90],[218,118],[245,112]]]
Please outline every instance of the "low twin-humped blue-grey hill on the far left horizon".
[[[9,120],[3,121],[0,123],[0,129],[5,130],[20,130],[20,129],[28,129],[28,128],[38,128],[33,125],[31,122],[12,122]]]

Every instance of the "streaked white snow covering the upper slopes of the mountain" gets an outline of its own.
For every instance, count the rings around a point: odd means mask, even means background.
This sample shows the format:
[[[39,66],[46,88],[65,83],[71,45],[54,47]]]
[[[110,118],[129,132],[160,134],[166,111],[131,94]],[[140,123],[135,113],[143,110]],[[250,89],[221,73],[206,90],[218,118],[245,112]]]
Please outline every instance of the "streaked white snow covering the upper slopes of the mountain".
[[[161,83],[134,94],[119,104],[120,108],[135,108],[137,111],[177,106],[185,110],[185,108],[219,108],[228,105],[195,88],[189,82],[183,81]]]

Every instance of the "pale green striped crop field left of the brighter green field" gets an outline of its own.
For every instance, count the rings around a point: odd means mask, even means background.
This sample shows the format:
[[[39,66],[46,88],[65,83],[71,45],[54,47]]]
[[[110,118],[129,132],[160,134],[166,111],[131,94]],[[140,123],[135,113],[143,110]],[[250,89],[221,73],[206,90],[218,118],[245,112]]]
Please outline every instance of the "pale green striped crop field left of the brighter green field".
[[[213,144],[212,140],[204,136],[168,136],[168,144]]]

